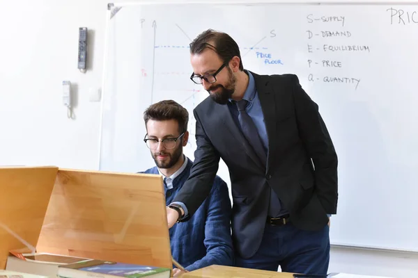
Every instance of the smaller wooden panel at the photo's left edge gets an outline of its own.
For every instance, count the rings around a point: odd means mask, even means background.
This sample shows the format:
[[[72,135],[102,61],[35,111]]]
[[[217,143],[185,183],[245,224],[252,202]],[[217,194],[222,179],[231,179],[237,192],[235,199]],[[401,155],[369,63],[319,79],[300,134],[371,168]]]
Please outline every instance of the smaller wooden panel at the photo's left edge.
[[[0,268],[9,250],[36,247],[58,167],[0,167]],[[20,239],[19,239],[20,238]]]

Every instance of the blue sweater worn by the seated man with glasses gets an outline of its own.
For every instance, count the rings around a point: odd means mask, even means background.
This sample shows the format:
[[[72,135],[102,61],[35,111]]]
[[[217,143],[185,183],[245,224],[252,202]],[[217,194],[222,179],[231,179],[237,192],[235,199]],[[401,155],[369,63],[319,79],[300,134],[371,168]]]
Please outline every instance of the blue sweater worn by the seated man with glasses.
[[[167,190],[167,186],[164,186],[167,205],[173,201],[189,177],[191,167],[192,161],[187,158],[187,166],[173,180],[173,188]],[[142,173],[159,174],[157,167]],[[217,176],[210,195],[192,218],[174,224],[169,229],[173,258],[189,271],[214,264],[233,265],[231,212],[228,186]]]

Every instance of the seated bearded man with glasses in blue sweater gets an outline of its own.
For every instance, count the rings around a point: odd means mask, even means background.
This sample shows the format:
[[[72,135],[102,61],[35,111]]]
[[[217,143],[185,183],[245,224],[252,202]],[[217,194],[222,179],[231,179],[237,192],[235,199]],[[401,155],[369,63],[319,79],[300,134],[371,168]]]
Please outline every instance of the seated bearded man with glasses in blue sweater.
[[[189,113],[176,101],[160,101],[144,113],[144,138],[157,166],[145,172],[162,174],[166,203],[169,205],[189,177],[192,161],[183,154],[189,132]],[[209,197],[187,222],[170,230],[173,259],[188,270],[208,265],[232,265],[231,199],[225,181],[216,177]],[[175,268],[175,276],[181,271]]]

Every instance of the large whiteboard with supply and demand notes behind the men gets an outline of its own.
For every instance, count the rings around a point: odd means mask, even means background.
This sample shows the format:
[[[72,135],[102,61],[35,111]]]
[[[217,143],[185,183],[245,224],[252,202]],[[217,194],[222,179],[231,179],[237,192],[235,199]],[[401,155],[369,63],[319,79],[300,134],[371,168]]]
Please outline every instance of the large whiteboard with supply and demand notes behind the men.
[[[162,99],[189,111],[192,136],[185,153],[194,158],[192,110],[208,92],[189,80],[188,46],[201,31],[218,29],[238,42],[246,69],[297,74],[320,106],[339,156],[332,244],[418,252],[415,11],[418,6],[389,4],[114,6],[104,60],[100,170],[137,172],[154,165],[142,141],[142,113]],[[224,163],[218,174],[230,184]]]

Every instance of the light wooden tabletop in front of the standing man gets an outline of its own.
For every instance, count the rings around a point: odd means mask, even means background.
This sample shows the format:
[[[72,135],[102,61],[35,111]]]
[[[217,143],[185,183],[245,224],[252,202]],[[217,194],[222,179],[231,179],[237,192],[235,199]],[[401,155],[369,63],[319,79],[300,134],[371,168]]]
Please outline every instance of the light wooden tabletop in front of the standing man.
[[[249,268],[235,268],[224,265],[210,265],[206,268],[187,272],[182,278],[230,278],[230,277],[257,277],[257,278],[292,278],[292,273],[256,270]]]

